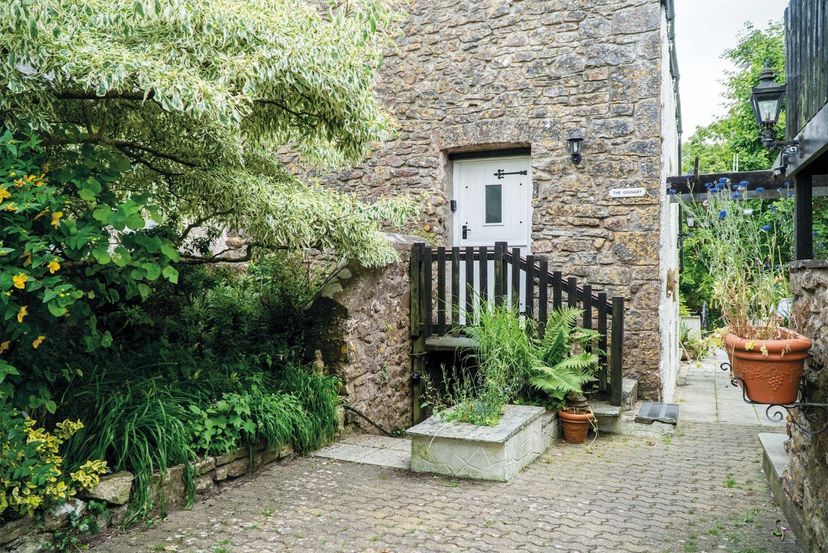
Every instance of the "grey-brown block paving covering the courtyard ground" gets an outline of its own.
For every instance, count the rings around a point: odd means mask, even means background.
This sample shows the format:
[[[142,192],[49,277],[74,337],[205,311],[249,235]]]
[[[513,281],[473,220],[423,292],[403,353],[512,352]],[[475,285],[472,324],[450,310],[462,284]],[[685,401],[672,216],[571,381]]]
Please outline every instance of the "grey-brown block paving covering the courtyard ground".
[[[298,458],[93,551],[793,553],[775,535],[757,430],[556,444],[508,484]]]

